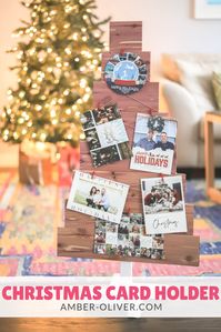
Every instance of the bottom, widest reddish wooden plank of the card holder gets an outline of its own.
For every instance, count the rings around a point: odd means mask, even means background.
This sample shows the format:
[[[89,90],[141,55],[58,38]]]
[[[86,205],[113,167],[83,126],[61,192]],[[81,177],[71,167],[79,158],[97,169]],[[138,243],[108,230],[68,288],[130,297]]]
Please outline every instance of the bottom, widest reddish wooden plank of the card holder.
[[[79,222],[79,221],[78,221]],[[82,225],[82,222],[81,222]],[[94,234],[94,223],[91,221],[90,228]],[[160,264],[180,264],[180,265],[198,265],[199,264],[199,237],[187,234],[165,234],[164,235],[164,260],[152,260],[144,258],[130,258],[108,254],[93,253],[93,238],[94,235],[81,235],[80,228],[59,228],[58,229],[58,255],[59,256],[78,256],[101,260],[114,260],[125,262],[151,262]]]

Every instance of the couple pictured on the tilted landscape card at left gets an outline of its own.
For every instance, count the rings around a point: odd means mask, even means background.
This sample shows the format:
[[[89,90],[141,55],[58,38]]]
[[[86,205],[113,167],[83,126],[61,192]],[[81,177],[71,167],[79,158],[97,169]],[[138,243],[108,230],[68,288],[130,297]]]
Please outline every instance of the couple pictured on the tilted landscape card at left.
[[[94,209],[103,209],[104,211],[108,211],[110,207],[109,198],[106,192],[106,188],[102,188],[101,190],[97,187],[92,187],[89,193],[89,197],[86,199],[87,207],[91,207]]]

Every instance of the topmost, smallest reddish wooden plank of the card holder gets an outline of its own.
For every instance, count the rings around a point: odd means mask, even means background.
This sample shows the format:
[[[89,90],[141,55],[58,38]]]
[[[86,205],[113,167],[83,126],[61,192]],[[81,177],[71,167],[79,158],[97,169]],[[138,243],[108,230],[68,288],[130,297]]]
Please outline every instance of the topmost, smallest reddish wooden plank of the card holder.
[[[142,22],[110,22],[110,51],[141,51]]]

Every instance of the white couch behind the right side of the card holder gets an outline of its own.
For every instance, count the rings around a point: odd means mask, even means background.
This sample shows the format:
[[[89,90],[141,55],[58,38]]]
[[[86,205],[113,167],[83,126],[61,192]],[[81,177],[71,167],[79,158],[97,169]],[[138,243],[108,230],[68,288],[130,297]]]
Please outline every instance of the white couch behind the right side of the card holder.
[[[204,167],[204,113],[217,110],[213,71],[221,72],[221,54],[163,54],[162,94],[178,120],[178,167]],[[221,112],[221,111],[220,111]],[[221,167],[221,125],[214,125],[214,160]]]

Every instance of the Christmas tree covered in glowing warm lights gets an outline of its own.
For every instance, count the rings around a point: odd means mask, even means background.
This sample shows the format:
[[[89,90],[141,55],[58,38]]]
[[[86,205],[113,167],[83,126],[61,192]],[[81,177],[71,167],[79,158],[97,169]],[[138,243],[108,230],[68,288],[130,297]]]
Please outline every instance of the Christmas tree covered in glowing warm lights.
[[[18,85],[9,89],[1,113],[1,137],[20,143],[70,142],[81,133],[80,114],[91,101],[92,81],[100,77],[103,49],[93,0],[22,2],[30,22],[14,31]],[[22,38],[21,38],[22,37]]]

